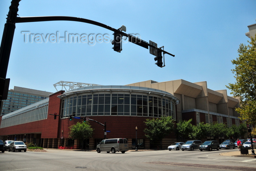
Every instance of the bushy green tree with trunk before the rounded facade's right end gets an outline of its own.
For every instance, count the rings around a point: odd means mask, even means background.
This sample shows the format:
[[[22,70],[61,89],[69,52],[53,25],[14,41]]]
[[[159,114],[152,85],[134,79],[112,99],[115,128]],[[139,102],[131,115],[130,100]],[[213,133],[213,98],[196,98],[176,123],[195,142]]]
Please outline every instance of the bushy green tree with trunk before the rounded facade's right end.
[[[145,136],[151,141],[161,140],[168,135],[174,128],[174,120],[171,116],[146,119],[144,122],[146,128],[144,129]]]

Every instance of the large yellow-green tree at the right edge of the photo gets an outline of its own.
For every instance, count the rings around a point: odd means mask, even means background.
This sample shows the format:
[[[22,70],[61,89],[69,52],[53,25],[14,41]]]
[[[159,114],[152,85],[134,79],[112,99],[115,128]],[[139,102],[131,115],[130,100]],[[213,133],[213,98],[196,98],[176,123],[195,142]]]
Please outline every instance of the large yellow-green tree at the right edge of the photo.
[[[231,70],[236,82],[229,83],[227,88],[235,97],[240,97],[241,108],[236,108],[240,119],[248,124],[256,124],[256,36],[248,43],[247,46],[240,44],[239,57],[231,61],[236,65]]]

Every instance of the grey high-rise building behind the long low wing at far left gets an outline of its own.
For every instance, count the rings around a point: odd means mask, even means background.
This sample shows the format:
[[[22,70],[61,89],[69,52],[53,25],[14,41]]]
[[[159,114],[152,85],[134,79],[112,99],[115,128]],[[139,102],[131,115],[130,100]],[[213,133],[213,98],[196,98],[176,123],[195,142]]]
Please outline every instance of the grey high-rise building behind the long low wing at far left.
[[[15,110],[44,100],[50,94],[52,93],[14,86],[14,89],[8,90],[7,100],[3,100],[1,115],[14,112]]]

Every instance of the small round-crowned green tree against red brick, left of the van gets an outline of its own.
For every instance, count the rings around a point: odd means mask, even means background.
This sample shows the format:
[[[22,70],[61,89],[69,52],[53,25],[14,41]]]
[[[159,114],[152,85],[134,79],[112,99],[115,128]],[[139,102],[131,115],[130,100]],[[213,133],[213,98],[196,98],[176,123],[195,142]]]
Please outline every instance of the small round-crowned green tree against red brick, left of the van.
[[[82,140],[82,149],[83,149],[83,139],[88,139],[93,136],[93,128],[88,121],[85,123],[76,123],[69,127],[69,138]]]

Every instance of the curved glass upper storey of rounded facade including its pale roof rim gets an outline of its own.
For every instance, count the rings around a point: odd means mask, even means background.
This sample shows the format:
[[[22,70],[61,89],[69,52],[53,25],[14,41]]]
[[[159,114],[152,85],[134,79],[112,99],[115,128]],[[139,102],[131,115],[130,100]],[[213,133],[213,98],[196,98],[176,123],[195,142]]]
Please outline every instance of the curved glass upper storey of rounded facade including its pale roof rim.
[[[98,86],[97,86],[98,87]],[[156,89],[132,86],[95,89],[83,88],[66,92],[62,98],[61,112],[64,116],[172,116],[176,119],[177,98]]]

